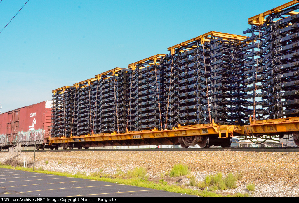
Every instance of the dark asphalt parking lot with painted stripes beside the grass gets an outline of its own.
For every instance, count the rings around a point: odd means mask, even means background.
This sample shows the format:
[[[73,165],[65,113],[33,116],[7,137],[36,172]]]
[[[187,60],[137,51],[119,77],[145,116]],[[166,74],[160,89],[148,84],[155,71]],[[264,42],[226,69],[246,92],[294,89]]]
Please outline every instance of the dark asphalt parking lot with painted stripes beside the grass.
[[[0,168],[1,197],[194,197],[97,180]]]

